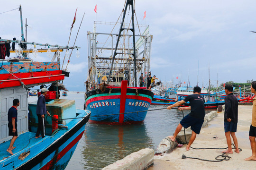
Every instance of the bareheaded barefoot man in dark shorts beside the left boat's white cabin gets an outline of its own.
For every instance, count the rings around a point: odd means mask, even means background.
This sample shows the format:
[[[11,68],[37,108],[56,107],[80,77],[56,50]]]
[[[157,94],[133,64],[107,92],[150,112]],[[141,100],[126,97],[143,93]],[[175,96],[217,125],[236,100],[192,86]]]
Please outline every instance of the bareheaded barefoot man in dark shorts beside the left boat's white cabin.
[[[16,147],[13,147],[15,140],[18,138],[18,130],[17,130],[17,117],[18,117],[18,110],[17,107],[19,106],[19,100],[14,99],[12,101],[13,106],[8,110],[8,127],[9,127],[9,136],[13,136],[9,148],[6,150],[10,154],[13,155],[12,150]]]

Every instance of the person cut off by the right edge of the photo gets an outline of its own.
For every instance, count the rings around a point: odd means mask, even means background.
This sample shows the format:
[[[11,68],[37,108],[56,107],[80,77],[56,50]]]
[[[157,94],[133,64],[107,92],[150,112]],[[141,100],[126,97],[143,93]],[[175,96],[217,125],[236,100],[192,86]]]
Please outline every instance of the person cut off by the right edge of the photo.
[[[252,82],[251,92],[256,95],[256,81]],[[253,110],[252,110],[252,124],[249,131],[249,139],[251,143],[252,156],[246,158],[246,161],[256,161],[256,97],[253,98]]]

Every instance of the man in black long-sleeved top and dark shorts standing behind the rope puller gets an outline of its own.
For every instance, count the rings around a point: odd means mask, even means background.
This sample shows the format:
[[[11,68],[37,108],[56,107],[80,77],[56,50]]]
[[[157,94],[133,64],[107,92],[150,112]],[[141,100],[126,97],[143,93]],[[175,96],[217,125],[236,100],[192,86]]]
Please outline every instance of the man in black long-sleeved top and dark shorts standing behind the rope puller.
[[[238,139],[235,134],[237,132],[238,126],[238,99],[233,94],[233,86],[226,85],[225,93],[227,96],[225,97],[225,112],[224,112],[224,130],[225,136],[227,138],[228,149],[222,151],[222,153],[233,153],[231,146],[231,137],[233,138],[234,144],[236,146],[236,153],[239,153],[238,149]]]

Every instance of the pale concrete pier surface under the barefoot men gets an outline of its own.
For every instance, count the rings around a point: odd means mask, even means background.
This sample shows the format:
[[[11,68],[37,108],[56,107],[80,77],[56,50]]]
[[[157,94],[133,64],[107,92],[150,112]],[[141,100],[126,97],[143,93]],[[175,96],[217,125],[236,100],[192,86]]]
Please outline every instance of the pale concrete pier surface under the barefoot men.
[[[155,155],[154,165],[147,170],[255,170],[256,161],[244,161],[252,155],[249,128],[252,119],[252,106],[238,106],[238,128],[236,136],[238,147],[242,149],[240,153],[228,153],[229,161],[209,162],[197,159],[182,159],[182,155],[187,157],[215,160],[221,155],[221,151],[226,149],[192,149],[186,151],[186,144],[176,147],[171,153]],[[233,140],[232,140],[233,143]],[[191,145],[194,148],[226,148],[227,141],[224,132],[224,111],[218,112],[217,117],[208,122],[207,126],[201,128],[201,132],[196,136]],[[234,150],[234,149],[233,149]]]

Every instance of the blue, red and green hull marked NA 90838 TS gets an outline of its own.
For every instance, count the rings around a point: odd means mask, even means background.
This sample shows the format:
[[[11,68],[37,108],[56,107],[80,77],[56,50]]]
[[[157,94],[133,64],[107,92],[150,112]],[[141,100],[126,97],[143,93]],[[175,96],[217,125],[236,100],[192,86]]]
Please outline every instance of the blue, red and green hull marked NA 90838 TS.
[[[154,94],[145,89],[127,88],[127,93],[121,95],[121,88],[106,88],[104,92],[92,90],[85,95],[84,107],[91,111],[89,122],[127,125],[144,121]]]

